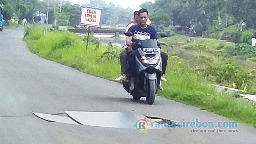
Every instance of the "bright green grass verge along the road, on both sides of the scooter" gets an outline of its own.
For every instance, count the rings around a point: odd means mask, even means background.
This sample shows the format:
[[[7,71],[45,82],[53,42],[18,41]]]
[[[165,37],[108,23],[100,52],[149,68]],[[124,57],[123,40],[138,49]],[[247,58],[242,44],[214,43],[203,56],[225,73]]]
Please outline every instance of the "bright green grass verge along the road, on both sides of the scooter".
[[[44,28],[31,28],[25,40],[32,52],[39,56],[74,67],[80,71],[98,77],[113,80],[120,75],[118,59],[101,58],[107,46],[96,48],[89,43],[88,49],[82,38],[70,32],[48,32]],[[187,42],[187,38],[177,36],[163,39],[164,42],[175,44],[176,41]],[[167,73],[164,76],[164,91],[158,95],[198,107],[234,121],[256,126],[256,107],[233,96],[217,94],[214,88],[204,79],[198,78],[188,63],[177,56],[169,55]]]

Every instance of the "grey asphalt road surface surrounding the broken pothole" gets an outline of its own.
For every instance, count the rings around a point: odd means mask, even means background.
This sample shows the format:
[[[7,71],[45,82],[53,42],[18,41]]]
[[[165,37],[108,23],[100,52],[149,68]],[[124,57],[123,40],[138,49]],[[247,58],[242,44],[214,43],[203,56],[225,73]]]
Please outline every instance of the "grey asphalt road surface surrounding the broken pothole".
[[[237,133],[192,133],[191,128],[102,128],[46,122],[31,112],[140,112],[176,121],[229,121],[197,108],[157,97],[133,101],[116,82],[93,77],[31,53],[23,30],[0,33],[0,144],[255,144],[256,129]],[[242,114],[241,114],[242,115]]]

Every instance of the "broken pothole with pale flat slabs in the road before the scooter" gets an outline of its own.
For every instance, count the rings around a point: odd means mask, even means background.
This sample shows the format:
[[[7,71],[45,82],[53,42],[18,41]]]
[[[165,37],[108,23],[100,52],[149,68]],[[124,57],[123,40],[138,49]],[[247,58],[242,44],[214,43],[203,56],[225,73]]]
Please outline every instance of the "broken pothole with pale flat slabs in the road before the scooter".
[[[65,113],[61,114],[32,113],[36,115],[36,117],[47,122],[59,122],[75,125],[124,129],[163,129],[178,127],[174,120],[146,116],[136,112],[65,111]]]

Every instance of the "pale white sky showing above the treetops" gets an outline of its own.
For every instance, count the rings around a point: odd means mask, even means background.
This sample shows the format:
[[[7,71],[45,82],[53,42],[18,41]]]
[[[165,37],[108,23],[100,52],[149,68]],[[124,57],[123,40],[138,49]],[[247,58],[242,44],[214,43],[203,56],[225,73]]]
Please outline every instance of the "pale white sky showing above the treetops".
[[[83,3],[90,3],[90,0],[69,0],[74,4],[80,4]],[[120,5],[120,7],[130,7],[130,8],[137,8],[145,1],[151,1],[154,3],[154,0],[103,0],[106,4],[109,4],[110,1],[112,1],[115,5]]]

